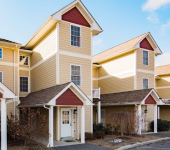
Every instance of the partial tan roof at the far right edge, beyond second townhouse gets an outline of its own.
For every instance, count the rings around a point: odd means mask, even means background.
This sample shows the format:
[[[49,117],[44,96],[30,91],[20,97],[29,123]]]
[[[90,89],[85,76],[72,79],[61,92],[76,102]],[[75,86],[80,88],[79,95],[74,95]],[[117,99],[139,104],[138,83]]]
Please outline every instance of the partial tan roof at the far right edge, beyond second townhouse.
[[[170,74],[170,65],[155,67],[155,75],[166,75],[166,74]]]

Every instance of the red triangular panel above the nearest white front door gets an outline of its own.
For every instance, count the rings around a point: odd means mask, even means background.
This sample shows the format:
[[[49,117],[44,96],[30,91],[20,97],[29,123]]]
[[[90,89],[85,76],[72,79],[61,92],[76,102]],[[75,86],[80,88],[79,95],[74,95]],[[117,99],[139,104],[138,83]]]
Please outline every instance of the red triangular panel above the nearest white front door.
[[[83,102],[70,89],[68,89],[56,99],[56,105],[82,106]]]

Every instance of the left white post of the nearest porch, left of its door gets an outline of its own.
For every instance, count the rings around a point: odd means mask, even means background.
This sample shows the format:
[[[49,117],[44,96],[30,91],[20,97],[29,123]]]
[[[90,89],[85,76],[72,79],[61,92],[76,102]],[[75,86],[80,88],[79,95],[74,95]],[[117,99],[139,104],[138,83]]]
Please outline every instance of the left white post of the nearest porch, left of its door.
[[[53,147],[53,106],[49,107],[49,144]]]

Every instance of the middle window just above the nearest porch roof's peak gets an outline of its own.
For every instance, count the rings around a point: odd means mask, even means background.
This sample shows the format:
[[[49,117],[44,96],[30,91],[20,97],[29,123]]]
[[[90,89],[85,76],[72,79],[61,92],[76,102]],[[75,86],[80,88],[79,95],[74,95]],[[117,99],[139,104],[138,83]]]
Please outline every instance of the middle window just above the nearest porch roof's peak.
[[[81,66],[71,65],[71,81],[81,86]]]

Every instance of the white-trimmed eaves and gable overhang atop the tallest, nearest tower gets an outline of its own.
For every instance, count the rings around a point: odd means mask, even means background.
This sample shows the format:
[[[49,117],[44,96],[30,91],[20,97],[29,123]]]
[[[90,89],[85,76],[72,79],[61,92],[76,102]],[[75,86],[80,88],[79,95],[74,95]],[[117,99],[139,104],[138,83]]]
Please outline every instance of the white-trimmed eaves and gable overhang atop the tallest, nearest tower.
[[[41,39],[41,37],[45,35],[45,33],[47,33],[47,31],[49,31],[52,27],[55,26],[56,23],[62,20],[63,13],[68,11],[69,8],[73,8],[74,6],[81,7],[81,10],[86,14],[86,16],[84,17],[87,18],[88,16],[88,18],[92,21],[89,23],[91,25],[93,35],[97,35],[103,31],[99,24],[96,22],[96,20],[93,18],[93,16],[90,14],[90,12],[87,10],[87,8],[84,6],[84,4],[81,2],[81,0],[74,0],[69,5],[52,14],[25,44],[25,48],[26,49],[33,48],[34,44],[38,42]]]

